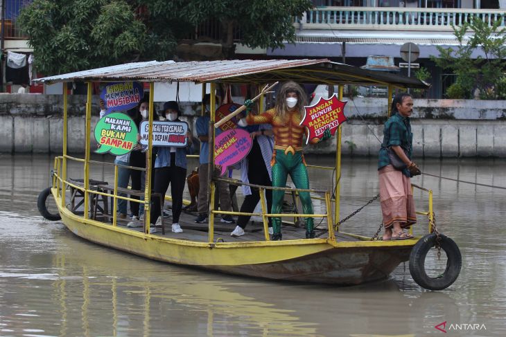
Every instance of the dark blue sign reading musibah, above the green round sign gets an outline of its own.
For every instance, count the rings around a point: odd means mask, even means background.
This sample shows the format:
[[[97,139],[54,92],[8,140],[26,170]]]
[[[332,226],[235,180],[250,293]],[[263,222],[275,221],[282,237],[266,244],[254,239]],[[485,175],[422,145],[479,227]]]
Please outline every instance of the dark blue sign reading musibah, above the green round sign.
[[[127,111],[142,100],[144,89],[139,82],[117,82],[107,84],[100,94],[107,112]]]

